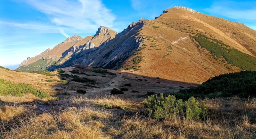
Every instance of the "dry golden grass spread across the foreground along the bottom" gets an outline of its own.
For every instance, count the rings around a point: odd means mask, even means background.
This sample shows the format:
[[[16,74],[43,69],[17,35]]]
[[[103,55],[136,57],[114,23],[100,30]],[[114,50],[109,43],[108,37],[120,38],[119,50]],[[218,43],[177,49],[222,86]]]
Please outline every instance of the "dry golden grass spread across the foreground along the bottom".
[[[105,109],[95,104],[110,103],[113,106],[141,106],[141,103],[118,97],[99,97],[96,99],[73,98],[76,107],[66,107],[60,112],[50,111],[37,115],[33,111],[25,112],[21,116],[17,109],[22,106],[8,108],[13,112],[9,115],[9,121],[2,121],[1,137],[3,138],[255,138],[256,125],[255,100],[249,99],[240,103],[242,99],[209,99],[205,100],[210,111],[207,120],[185,120],[179,117],[158,121],[144,117],[139,113],[141,107],[137,107],[136,114],[120,116],[118,109]],[[235,102],[234,102],[235,101]],[[88,105],[89,104],[89,105]],[[227,108],[227,104],[234,105]],[[225,116],[225,112],[232,115],[237,105],[245,107],[248,115],[240,113],[239,116]],[[8,106],[9,107],[9,106]],[[22,108],[24,109],[24,107]],[[143,110],[142,110],[143,111]],[[24,111],[23,111],[24,112]],[[239,111],[238,111],[239,112]],[[1,113],[2,115],[2,113]],[[16,115],[16,116],[15,116]],[[12,118],[15,116],[16,118]],[[8,126],[12,123],[12,126]]]

